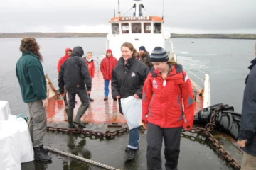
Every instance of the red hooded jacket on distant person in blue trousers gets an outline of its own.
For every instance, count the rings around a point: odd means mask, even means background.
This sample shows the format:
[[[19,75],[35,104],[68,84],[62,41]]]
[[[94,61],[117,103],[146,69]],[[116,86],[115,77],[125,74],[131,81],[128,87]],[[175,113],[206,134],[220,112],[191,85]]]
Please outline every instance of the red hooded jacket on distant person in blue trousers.
[[[107,52],[111,52],[110,49]],[[117,65],[117,59],[111,55],[110,57],[104,57],[100,62],[100,72],[102,72],[103,79],[111,80],[112,71],[114,67]]]

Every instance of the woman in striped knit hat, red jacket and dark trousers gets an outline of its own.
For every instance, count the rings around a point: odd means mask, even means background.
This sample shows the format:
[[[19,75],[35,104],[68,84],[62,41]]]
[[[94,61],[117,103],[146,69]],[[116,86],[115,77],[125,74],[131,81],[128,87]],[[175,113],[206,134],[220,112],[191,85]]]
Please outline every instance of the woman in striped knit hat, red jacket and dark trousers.
[[[193,127],[191,81],[182,66],[169,60],[166,50],[155,47],[154,66],[143,87],[142,123],[147,129],[147,169],[161,170],[164,138],[166,169],[175,170],[180,152],[181,130]]]

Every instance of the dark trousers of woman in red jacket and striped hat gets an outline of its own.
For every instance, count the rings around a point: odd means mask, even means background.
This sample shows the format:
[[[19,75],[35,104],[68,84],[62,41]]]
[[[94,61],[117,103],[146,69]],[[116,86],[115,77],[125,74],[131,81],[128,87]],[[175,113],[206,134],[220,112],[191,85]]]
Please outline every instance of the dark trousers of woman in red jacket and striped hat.
[[[176,170],[181,144],[180,128],[160,128],[152,123],[148,124],[146,134],[147,150],[146,162],[148,170],[161,170],[161,147],[164,139],[164,156],[166,170]]]

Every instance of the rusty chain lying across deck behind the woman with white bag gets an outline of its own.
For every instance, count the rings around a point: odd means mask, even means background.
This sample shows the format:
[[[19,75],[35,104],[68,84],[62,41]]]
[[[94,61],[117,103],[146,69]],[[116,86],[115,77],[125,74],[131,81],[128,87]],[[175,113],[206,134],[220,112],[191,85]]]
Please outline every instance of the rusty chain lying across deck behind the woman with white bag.
[[[114,137],[119,136],[120,134],[129,131],[129,128],[122,128],[120,130],[115,130],[113,132],[106,131],[106,132],[99,132],[99,131],[92,131],[92,130],[82,130],[82,129],[69,129],[69,128],[56,128],[52,126],[48,126],[47,130],[50,131],[57,131],[57,132],[72,132],[75,134],[82,134],[87,137],[95,137],[95,138],[106,138],[106,139],[114,139]]]

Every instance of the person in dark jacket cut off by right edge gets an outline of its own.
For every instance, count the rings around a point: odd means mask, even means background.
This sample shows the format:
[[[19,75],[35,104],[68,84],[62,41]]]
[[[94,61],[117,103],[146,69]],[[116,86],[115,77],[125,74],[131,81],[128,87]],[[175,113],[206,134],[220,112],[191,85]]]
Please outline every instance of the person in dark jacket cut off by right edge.
[[[256,56],[256,43],[255,43]],[[245,151],[241,170],[256,169],[256,59],[251,61],[250,73],[245,79],[242,102],[242,119],[238,135],[238,145]]]

